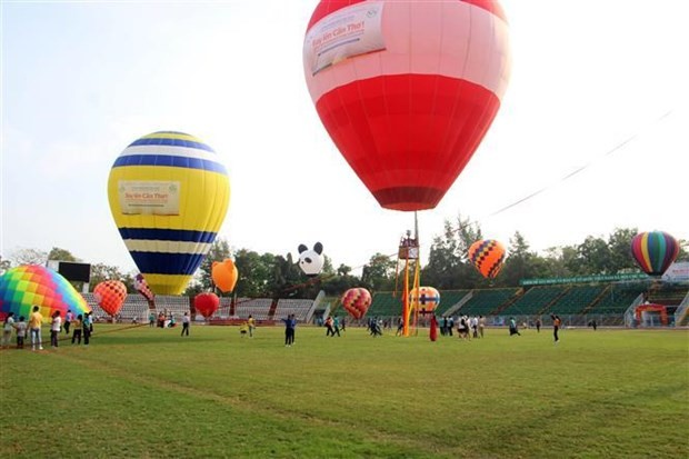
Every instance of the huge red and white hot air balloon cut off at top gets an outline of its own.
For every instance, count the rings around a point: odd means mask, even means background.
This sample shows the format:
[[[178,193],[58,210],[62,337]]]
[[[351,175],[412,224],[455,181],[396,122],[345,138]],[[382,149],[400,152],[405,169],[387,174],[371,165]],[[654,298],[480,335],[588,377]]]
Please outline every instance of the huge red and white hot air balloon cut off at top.
[[[388,209],[432,209],[488,131],[510,74],[493,0],[321,0],[303,67],[316,110]]]

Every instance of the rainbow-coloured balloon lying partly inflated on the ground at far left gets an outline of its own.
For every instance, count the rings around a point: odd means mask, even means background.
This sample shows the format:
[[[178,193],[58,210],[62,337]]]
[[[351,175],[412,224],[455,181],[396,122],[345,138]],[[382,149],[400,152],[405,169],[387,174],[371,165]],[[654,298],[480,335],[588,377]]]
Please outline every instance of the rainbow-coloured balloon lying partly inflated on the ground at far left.
[[[38,265],[26,265],[8,270],[0,277],[0,311],[14,312],[14,320],[27,320],[33,306],[40,308],[43,321],[60,311],[64,318],[71,309],[74,316],[91,311],[83,297],[58,272]]]

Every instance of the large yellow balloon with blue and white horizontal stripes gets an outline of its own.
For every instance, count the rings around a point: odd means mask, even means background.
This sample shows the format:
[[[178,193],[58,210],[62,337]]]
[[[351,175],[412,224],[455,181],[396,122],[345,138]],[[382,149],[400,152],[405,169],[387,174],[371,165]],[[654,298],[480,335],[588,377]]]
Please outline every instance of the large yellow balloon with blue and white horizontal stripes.
[[[117,158],[108,200],[151,290],[179,295],[222,226],[230,180],[218,154],[201,140],[182,132],[153,132]]]

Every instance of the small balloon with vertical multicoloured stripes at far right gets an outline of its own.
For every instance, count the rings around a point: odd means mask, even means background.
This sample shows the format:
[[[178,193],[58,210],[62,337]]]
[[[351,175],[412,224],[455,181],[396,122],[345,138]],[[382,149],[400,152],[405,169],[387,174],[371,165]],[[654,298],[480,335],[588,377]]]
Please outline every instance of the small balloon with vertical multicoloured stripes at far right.
[[[678,255],[679,243],[665,231],[640,232],[631,240],[631,256],[650,276],[662,276]]]

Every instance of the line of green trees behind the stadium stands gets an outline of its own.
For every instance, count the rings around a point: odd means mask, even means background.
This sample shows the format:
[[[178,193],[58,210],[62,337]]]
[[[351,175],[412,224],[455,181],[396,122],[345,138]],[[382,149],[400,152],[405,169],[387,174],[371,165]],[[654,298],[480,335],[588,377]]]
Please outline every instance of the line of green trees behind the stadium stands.
[[[471,265],[467,252],[477,240],[483,239],[479,226],[459,216],[446,220],[442,232],[433,237],[428,262],[421,268],[421,285],[439,290],[460,290],[489,287],[517,287],[522,279],[567,278],[592,275],[619,275],[639,272],[631,257],[631,239],[637,228],[618,228],[608,237],[588,236],[582,242],[552,247],[545,253],[531,250],[527,240],[517,231],[506,245],[508,257],[497,278],[485,279]],[[505,242],[503,242],[505,243]],[[689,243],[680,240],[678,261],[689,261]],[[352,287],[363,287],[371,292],[400,290],[398,260],[380,252],[370,257],[360,275],[346,265],[334,268],[326,255],[320,276],[309,278],[299,268],[291,253],[287,256],[258,253],[250,249],[232,250],[224,239],[213,242],[208,256],[189,283],[186,296],[212,291],[211,265],[232,258],[239,271],[234,291],[227,295],[249,298],[314,298],[320,290],[328,296],[339,296]],[[52,248],[50,252],[21,249],[11,259],[0,257],[0,273],[13,266],[46,265],[47,260],[81,261],[69,250]],[[133,292],[137,272],[122,272],[120,268],[104,263],[91,265],[91,290],[101,281],[119,279]],[[81,286],[76,285],[81,291]],[[220,295],[219,291],[217,291]]]

